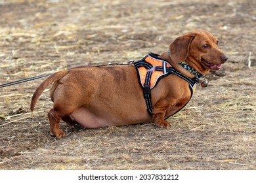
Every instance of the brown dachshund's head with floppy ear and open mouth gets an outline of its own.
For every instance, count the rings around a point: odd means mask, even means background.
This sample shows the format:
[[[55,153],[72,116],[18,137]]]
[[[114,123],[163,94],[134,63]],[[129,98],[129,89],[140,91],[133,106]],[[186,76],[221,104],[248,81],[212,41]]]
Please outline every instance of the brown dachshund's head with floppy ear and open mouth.
[[[218,40],[208,31],[198,30],[181,35],[170,44],[170,56],[175,63],[186,61],[199,73],[221,69],[227,56],[218,47]]]

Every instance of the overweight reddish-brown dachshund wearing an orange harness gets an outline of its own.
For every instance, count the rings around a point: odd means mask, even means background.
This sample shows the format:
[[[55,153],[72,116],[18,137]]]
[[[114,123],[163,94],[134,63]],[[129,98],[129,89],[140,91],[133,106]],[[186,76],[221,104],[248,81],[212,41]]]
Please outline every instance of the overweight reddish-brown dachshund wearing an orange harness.
[[[49,76],[33,93],[31,110],[47,86],[53,108],[48,113],[51,135],[61,138],[60,120],[87,128],[154,122],[166,118],[192,97],[198,79],[221,69],[228,59],[208,31],[177,37],[163,54],[150,53],[129,65],[77,67]]]

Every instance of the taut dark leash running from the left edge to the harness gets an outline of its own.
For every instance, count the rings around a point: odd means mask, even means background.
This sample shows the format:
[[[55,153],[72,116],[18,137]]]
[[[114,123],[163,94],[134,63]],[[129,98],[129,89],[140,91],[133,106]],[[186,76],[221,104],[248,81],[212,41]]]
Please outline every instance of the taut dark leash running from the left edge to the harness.
[[[104,65],[96,65],[96,67],[102,67],[102,66],[108,66],[108,65],[130,65],[134,62],[135,61],[131,60],[131,61],[128,61],[127,63],[123,63],[123,62],[108,63],[108,64],[104,64]],[[31,78],[24,78],[22,80],[16,80],[14,82],[8,82],[8,83],[5,83],[5,84],[1,84],[0,88],[5,88],[7,86],[12,86],[14,84],[20,84],[22,82],[28,82],[28,81],[31,81],[31,80],[36,80],[36,79],[43,78],[43,77],[50,76],[50,75],[53,75],[53,73],[49,73],[49,74],[45,74],[45,75],[39,75],[39,76],[33,76]]]

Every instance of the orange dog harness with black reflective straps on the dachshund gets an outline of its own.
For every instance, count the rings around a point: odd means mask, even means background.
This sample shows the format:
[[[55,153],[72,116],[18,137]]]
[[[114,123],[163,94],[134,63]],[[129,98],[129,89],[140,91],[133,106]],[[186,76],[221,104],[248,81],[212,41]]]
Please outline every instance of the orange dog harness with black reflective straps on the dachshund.
[[[152,114],[153,111],[151,104],[151,90],[158,84],[161,78],[172,74],[186,80],[188,82],[188,87],[190,88],[191,92],[190,99],[193,95],[194,90],[196,90],[196,85],[199,82],[197,76],[195,76],[194,78],[188,78],[187,76],[177,71],[174,67],[172,67],[171,64],[169,64],[166,60],[158,58],[158,56],[158,54],[149,53],[140,61],[135,61],[133,63],[137,69],[139,83],[140,86],[143,88],[143,95],[146,100],[148,112],[150,114]],[[186,104],[183,107],[185,107]],[[179,110],[177,112],[179,112]]]

